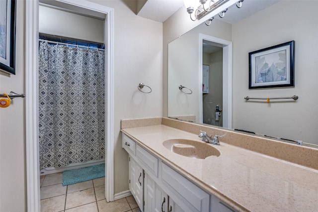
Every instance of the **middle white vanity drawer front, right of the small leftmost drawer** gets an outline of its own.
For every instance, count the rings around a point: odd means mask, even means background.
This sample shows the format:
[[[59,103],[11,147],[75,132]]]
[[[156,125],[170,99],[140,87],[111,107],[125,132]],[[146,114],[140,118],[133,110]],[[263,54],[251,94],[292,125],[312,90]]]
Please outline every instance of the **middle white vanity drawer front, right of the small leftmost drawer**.
[[[139,145],[137,145],[136,156],[146,172],[150,172],[158,177],[158,158]]]

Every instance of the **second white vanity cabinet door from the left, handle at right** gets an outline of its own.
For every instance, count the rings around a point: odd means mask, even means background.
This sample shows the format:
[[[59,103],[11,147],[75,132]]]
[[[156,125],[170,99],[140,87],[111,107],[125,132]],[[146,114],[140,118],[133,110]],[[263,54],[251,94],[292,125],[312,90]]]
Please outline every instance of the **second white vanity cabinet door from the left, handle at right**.
[[[145,173],[145,212],[168,212],[168,196],[156,184],[156,182]]]

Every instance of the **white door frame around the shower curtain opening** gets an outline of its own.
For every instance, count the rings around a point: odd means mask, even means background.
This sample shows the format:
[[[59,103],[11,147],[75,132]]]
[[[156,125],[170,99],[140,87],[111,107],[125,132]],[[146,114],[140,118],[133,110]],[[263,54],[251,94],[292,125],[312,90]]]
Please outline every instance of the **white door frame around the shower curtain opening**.
[[[104,41],[106,70],[106,130],[105,130],[105,197],[114,201],[114,9],[86,0],[48,0],[105,14]],[[40,170],[38,133],[38,25],[39,1],[25,1],[25,140],[27,211],[40,211]]]

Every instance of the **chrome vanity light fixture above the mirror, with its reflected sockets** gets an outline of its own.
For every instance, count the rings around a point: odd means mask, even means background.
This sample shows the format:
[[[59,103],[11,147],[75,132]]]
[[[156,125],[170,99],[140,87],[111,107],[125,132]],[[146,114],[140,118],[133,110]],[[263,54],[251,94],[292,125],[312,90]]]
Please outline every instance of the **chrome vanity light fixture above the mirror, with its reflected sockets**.
[[[219,6],[221,6],[222,4],[226,3],[229,0],[199,0],[200,4],[196,3],[198,0],[183,0],[183,1],[184,1],[185,8],[187,8],[187,12],[190,14],[191,20],[195,21],[195,20],[201,19],[202,17],[204,17],[205,15],[207,15],[208,13],[215,10],[216,8],[218,8]],[[239,0],[238,2],[236,2],[236,5],[238,8],[242,6],[243,1],[244,0]],[[206,6],[208,6],[207,9],[206,9]],[[194,8],[196,9],[194,10]],[[219,13],[219,16],[223,18],[227,10],[228,9],[224,9],[223,11],[221,11]],[[193,12],[194,12],[194,18],[191,15]],[[214,17],[209,18],[208,19],[208,21],[210,21],[209,24],[206,21],[205,21],[205,24],[209,26],[213,18]]]

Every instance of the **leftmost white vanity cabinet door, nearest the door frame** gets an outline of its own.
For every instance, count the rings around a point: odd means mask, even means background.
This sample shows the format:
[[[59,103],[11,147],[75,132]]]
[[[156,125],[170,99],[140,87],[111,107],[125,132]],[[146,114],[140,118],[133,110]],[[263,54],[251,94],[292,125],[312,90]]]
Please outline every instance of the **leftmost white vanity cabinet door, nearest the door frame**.
[[[144,170],[136,161],[129,157],[129,189],[139,208],[143,211],[144,205]]]

